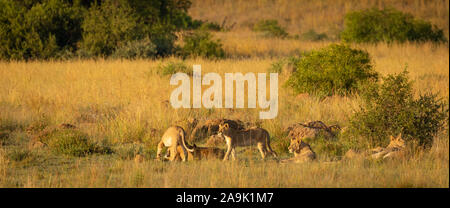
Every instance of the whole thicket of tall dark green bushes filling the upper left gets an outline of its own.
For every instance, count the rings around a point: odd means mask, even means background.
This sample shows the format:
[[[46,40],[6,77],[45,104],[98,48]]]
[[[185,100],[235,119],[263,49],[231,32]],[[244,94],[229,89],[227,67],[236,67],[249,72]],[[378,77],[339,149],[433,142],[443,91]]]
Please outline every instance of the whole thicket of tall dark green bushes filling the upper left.
[[[175,32],[201,25],[188,16],[190,5],[189,0],[0,0],[0,59],[174,54]]]

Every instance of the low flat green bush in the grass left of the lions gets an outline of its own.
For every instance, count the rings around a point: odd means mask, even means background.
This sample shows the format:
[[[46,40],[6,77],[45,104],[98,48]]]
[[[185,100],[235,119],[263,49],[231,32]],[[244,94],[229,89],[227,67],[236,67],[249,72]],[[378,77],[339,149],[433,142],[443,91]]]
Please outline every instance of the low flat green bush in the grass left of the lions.
[[[53,131],[42,138],[42,142],[58,154],[82,157],[92,153],[108,153],[108,148],[102,148],[91,142],[87,134],[75,129]]]

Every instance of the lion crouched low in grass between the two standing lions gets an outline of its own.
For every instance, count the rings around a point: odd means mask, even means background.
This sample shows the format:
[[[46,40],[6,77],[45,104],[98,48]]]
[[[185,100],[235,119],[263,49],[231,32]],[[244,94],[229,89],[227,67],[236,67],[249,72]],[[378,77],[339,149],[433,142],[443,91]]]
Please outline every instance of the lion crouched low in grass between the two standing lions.
[[[182,151],[181,145],[178,145],[178,153],[175,156],[175,160],[180,159],[180,152]],[[193,152],[188,151],[187,160],[211,160],[211,159],[222,159],[225,155],[225,151],[223,149],[217,147],[197,147],[197,145],[193,145]]]

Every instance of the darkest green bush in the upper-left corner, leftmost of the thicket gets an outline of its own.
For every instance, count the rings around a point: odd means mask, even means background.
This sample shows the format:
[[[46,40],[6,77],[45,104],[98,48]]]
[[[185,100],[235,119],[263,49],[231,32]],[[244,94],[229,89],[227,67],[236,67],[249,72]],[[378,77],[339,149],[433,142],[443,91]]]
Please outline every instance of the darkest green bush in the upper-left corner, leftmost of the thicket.
[[[64,1],[0,1],[0,59],[55,58],[76,50],[82,8]]]

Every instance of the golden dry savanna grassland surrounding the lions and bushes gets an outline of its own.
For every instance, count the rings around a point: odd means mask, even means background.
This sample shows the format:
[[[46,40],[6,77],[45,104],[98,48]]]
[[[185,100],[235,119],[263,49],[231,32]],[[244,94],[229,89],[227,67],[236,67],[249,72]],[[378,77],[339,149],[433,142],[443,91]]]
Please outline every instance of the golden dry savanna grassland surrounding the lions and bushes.
[[[314,28],[332,37],[346,11],[387,5],[431,21],[448,37],[448,1],[194,1],[193,18],[221,22],[227,16],[227,24],[236,25],[215,33],[228,58],[185,62],[201,64],[202,73],[265,73],[279,58],[336,41],[263,38],[246,27],[248,22],[278,19],[290,33]],[[407,68],[417,93],[435,92],[448,102],[448,44],[352,47],[369,52],[380,74]],[[176,59],[0,62],[0,130],[10,130],[0,142],[0,187],[449,187],[448,126],[430,150],[399,160],[329,163],[333,158],[318,154],[316,162],[279,164],[262,162],[253,148],[238,151],[236,162],[154,161],[164,130],[189,117],[259,121],[259,109],[176,110],[165,105],[174,86],[156,70]],[[261,123],[282,158],[291,156],[284,127],[313,120],[345,127],[361,103],[356,95],[295,96],[282,87],[286,79],[279,76],[278,116]],[[73,157],[29,145],[27,129],[61,123],[76,125],[112,153]],[[137,152],[145,157],[142,163],[133,160]]]

